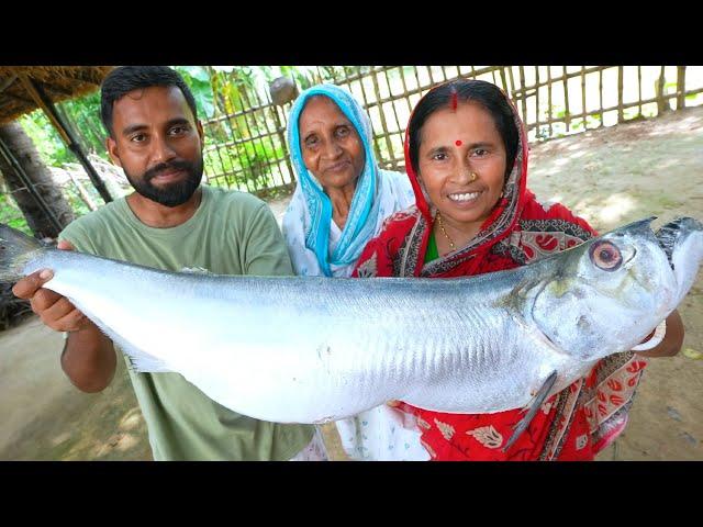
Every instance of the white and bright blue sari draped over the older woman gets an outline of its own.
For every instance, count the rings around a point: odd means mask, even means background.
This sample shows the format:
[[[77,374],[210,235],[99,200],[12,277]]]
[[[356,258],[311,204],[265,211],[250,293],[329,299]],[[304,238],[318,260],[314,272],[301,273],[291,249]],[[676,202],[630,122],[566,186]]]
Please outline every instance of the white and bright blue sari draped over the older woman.
[[[332,201],[303,162],[299,120],[308,100],[315,96],[332,99],[364,144],[366,161],[343,229],[332,220]],[[378,235],[386,217],[415,203],[404,173],[378,167],[372,141],[366,111],[343,88],[317,85],[303,91],[293,103],[288,121],[288,146],[298,187],[283,216],[282,229],[297,274],[349,277],[364,247]],[[414,418],[388,405],[337,421],[336,426],[344,450],[354,460],[429,459],[420,444]]]

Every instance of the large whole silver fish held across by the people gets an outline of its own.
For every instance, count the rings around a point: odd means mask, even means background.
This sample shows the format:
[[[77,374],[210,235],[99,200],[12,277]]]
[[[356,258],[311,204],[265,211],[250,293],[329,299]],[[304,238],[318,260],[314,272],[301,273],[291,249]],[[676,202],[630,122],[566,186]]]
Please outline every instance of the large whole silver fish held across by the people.
[[[41,246],[0,226],[0,280],[42,268],[131,356],[235,412],[322,423],[389,400],[493,413],[562,390],[677,307],[703,225],[633,223],[534,265],[473,278],[175,273]]]

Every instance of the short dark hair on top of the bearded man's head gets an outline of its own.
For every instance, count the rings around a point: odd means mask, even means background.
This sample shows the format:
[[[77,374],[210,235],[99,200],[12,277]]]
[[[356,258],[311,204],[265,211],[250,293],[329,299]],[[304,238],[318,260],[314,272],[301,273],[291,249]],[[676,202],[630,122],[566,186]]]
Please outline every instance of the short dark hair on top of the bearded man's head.
[[[198,120],[196,99],[183,78],[176,70],[167,66],[121,66],[108,74],[100,90],[100,119],[111,137],[114,138],[112,109],[115,101],[132,90],[152,86],[178,87],[193,112],[193,117]]]

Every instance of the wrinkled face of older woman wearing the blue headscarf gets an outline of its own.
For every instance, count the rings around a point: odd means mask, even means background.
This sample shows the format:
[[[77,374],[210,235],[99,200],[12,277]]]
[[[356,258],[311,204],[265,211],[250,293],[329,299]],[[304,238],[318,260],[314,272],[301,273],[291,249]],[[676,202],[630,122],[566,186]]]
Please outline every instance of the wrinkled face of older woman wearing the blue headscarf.
[[[299,120],[300,149],[323,189],[356,187],[364,170],[364,143],[332,99],[311,98]]]

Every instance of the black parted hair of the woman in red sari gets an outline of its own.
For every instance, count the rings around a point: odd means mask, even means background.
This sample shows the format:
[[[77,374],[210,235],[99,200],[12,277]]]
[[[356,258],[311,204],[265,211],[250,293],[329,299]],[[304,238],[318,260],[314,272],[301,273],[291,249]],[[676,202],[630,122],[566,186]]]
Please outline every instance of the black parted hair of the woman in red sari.
[[[495,85],[484,80],[477,79],[458,79],[446,82],[442,86],[433,88],[417,103],[413,111],[408,130],[410,133],[410,164],[419,172],[419,157],[422,127],[425,121],[437,110],[447,108],[451,104],[451,98],[456,97],[458,101],[476,101],[480,103],[493,117],[495,127],[498,128],[506,154],[506,172],[510,173],[517,155],[518,133],[513,109],[503,96],[503,92]]]

